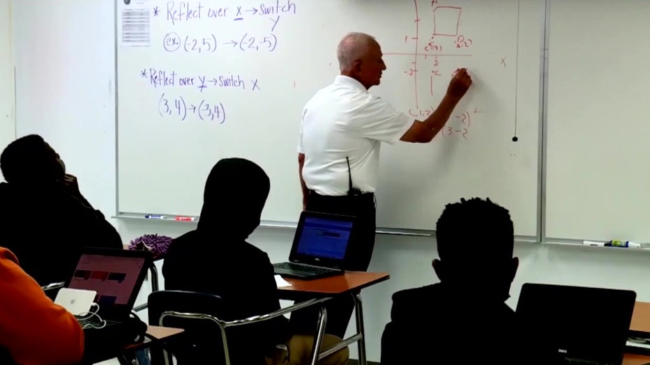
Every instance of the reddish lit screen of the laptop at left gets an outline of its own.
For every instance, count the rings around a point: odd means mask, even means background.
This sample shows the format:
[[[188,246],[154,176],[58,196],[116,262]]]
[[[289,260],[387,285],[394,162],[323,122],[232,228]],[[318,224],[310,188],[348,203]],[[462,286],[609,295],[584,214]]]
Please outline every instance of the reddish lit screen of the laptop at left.
[[[145,265],[144,257],[82,254],[68,288],[95,290],[100,311],[123,309],[142,286],[139,277]]]

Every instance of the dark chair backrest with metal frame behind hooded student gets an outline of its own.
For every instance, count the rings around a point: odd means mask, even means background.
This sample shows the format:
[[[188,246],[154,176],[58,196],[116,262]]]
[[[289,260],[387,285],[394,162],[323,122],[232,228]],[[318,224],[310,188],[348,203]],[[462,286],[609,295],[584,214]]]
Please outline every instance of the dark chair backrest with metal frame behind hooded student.
[[[181,290],[160,290],[149,295],[149,325],[185,329],[181,341],[169,344],[169,350],[181,364],[225,364],[220,327],[211,320],[162,318],[162,313],[201,313],[220,318],[225,304],[218,295]],[[162,322],[161,322],[162,319]],[[153,364],[160,361],[160,353],[151,354]]]

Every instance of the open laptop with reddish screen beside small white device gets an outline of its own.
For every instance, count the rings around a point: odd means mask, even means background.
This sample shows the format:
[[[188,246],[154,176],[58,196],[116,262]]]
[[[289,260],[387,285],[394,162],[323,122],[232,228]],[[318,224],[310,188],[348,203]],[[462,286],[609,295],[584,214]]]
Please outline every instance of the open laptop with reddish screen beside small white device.
[[[66,287],[95,291],[98,316],[107,325],[121,323],[130,316],[152,263],[151,251],[86,248]]]

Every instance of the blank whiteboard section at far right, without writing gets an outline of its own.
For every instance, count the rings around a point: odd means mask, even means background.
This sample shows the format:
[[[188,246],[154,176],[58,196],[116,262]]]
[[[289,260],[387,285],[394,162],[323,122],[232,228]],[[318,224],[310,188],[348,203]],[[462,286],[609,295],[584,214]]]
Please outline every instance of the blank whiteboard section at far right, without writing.
[[[552,1],[547,238],[650,240],[650,1]]]

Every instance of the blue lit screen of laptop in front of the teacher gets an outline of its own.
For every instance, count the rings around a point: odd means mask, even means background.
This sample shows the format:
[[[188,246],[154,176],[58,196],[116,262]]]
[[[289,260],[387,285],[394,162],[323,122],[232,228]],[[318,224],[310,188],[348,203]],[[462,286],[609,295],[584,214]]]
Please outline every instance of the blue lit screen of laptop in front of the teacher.
[[[352,222],[305,217],[297,253],[342,260],[352,233]]]

